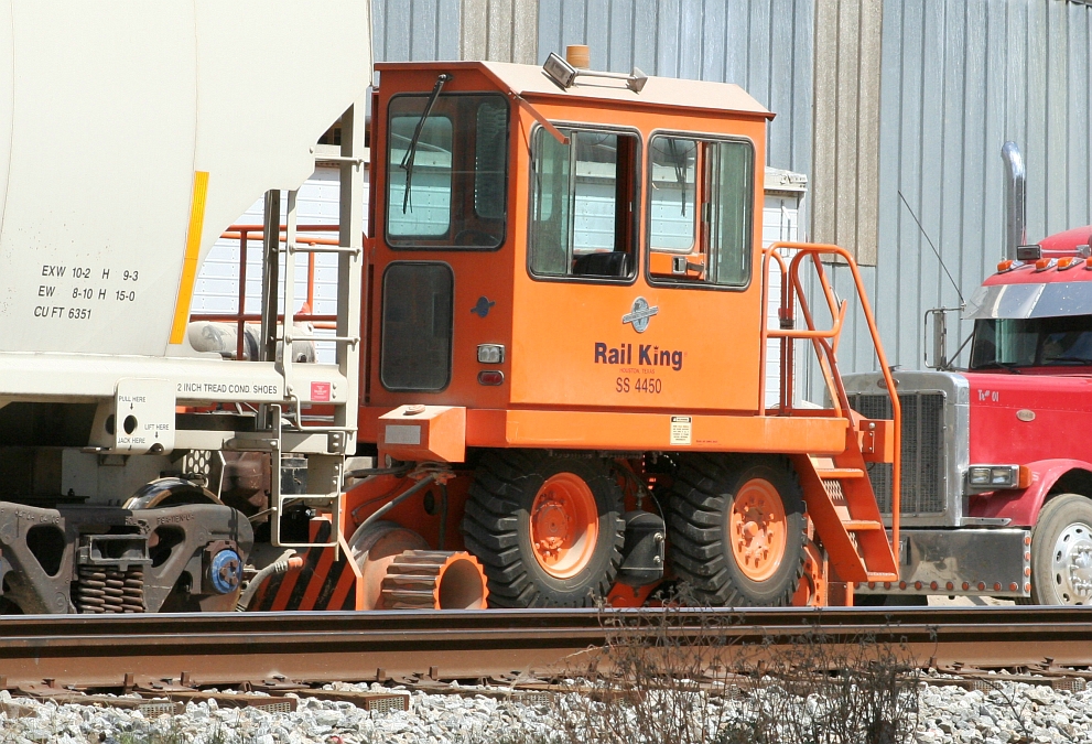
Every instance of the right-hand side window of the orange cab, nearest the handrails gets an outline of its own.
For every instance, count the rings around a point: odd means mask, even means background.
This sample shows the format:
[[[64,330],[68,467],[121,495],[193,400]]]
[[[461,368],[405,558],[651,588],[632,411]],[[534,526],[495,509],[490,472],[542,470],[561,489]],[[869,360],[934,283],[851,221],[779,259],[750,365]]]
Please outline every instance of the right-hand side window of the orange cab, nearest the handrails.
[[[649,141],[649,273],[663,283],[750,281],[749,142],[657,134]]]

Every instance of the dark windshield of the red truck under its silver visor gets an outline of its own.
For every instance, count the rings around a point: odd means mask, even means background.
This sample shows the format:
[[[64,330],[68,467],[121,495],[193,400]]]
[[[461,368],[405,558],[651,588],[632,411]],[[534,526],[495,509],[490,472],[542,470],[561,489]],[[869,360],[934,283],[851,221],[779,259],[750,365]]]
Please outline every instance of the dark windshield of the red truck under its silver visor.
[[[981,319],[971,369],[1092,366],[1092,315]]]

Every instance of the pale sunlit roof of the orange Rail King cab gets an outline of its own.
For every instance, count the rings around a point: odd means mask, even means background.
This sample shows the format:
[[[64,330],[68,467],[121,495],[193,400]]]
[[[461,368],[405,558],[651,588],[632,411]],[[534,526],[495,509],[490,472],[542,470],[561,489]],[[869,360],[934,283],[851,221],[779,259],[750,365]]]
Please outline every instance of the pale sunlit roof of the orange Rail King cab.
[[[649,76],[641,91],[635,93],[626,87],[625,80],[592,75],[582,75],[572,87],[562,88],[542,67],[507,62],[388,62],[377,64],[376,69],[380,73],[396,69],[434,69],[437,73],[477,69],[502,90],[528,100],[599,100],[636,107],[715,111],[721,116],[743,114],[765,119],[772,119],[775,116],[734,83]]]

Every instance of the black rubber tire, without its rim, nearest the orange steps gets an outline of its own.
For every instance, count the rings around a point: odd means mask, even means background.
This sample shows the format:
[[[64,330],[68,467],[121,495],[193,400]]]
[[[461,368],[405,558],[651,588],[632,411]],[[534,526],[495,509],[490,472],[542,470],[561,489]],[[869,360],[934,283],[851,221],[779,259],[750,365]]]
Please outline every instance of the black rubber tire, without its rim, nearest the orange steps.
[[[728,547],[728,515],[738,488],[761,477],[777,488],[788,535],[785,558],[769,579],[756,582],[739,571]],[[683,455],[675,473],[668,517],[669,560],[695,599],[718,607],[780,607],[792,601],[804,570],[803,494],[785,457]],[[791,536],[797,535],[797,539]]]

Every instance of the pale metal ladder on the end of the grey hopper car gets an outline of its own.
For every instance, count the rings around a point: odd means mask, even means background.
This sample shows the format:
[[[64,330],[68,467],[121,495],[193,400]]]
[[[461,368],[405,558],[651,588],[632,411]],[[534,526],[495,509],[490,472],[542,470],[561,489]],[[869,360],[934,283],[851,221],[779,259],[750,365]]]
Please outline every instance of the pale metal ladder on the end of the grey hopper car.
[[[298,193],[288,194],[283,247],[280,240],[280,193],[270,192],[266,201],[266,273],[262,298],[262,338],[267,360],[275,358],[281,346],[278,366],[283,377],[284,402],[264,407],[264,422],[272,445],[270,474],[271,541],[280,548],[333,548],[335,559],[343,540],[343,511],[345,503],[345,459],[356,449],[357,417],[360,377],[360,310],[364,277],[363,193],[365,160],[356,150],[364,150],[363,103],[350,107],[342,117],[340,155],[320,155],[323,161],[334,161],[340,168],[340,204],[338,209],[338,240],[336,246],[306,244],[296,236]],[[359,145],[359,147],[356,147]],[[337,256],[337,312],[334,335],[325,336],[302,332],[295,327],[295,257],[309,254]],[[284,273],[277,280],[280,258],[284,259]],[[280,292],[275,291],[280,288]],[[270,289],[272,288],[272,289]],[[278,324],[278,294],[281,316]],[[278,332],[278,326],[280,331]],[[311,390],[302,393],[303,386],[312,385],[314,365],[293,360],[294,342],[327,342],[335,346],[335,364],[345,390],[331,392],[328,405],[333,408],[329,425],[305,425],[301,414],[301,401],[312,400]],[[283,493],[283,456],[305,453],[307,459],[306,493]],[[281,518],[288,509],[307,507],[327,513],[332,529],[325,542],[290,541],[282,533]]]

